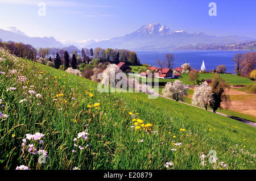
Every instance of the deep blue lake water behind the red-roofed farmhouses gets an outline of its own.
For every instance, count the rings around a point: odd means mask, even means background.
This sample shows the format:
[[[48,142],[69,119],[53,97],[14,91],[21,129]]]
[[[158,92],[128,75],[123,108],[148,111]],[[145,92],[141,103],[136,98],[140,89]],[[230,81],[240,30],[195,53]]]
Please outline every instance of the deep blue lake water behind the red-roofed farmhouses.
[[[174,67],[181,66],[184,63],[189,63],[192,68],[199,70],[201,64],[204,60],[205,67],[207,71],[210,69],[216,69],[218,65],[225,65],[227,73],[235,73],[234,71],[234,61],[232,58],[235,54],[246,53],[249,51],[224,51],[224,50],[175,50],[173,52],[147,52],[147,51],[137,51],[137,56],[141,60],[141,64],[150,64],[153,66],[158,66],[156,60],[164,60],[166,53],[174,54]]]

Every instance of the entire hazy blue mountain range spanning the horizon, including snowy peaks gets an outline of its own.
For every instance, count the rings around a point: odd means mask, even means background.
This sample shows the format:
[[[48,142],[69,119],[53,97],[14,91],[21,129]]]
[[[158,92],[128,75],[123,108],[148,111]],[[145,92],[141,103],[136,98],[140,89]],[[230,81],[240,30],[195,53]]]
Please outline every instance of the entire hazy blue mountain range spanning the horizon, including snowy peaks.
[[[213,36],[203,32],[188,33],[187,31],[171,31],[167,26],[151,23],[142,26],[137,31],[125,36],[109,40],[58,41],[54,37],[30,37],[15,27],[0,29],[0,39],[3,41],[22,42],[35,48],[63,48],[70,45],[82,48],[118,48],[130,50],[171,50],[186,45],[223,45],[242,41],[255,41],[246,36]]]

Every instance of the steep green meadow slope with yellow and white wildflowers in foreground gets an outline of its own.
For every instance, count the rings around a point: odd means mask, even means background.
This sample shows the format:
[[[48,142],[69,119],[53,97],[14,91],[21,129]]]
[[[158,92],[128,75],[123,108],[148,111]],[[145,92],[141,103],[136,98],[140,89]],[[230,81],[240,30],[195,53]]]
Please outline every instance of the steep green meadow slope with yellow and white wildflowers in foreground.
[[[85,78],[2,54],[0,109],[8,117],[0,119],[1,169],[166,169],[168,161],[174,169],[255,169],[254,127],[142,93],[100,93]],[[134,129],[135,118],[152,126]],[[36,132],[43,143],[26,140],[22,157],[22,140]],[[43,146],[46,164],[29,144]],[[205,158],[203,166],[200,156],[210,150],[217,162]]]

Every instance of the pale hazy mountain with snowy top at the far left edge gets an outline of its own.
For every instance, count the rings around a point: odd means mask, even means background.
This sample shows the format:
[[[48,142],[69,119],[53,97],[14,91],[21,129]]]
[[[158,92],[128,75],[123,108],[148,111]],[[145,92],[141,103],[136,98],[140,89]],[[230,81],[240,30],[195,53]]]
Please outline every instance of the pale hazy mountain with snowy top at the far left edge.
[[[7,28],[7,30],[0,29],[0,39],[3,41],[14,41],[22,42],[24,44],[30,44],[35,48],[46,48],[46,47],[64,47],[59,41],[55,40],[54,37],[29,37],[22,31],[15,27]]]

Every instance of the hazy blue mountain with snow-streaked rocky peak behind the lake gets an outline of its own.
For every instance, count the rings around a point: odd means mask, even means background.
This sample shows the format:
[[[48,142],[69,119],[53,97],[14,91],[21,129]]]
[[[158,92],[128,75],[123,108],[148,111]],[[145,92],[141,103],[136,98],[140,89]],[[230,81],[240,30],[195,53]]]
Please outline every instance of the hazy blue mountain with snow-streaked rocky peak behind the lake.
[[[188,33],[187,31],[171,31],[167,26],[152,23],[142,26],[137,31],[128,35],[115,37],[106,41],[92,43],[90,48],[124,48],[134,50],[175,49],[185,45],[197,44],[228,44],[242,41],[255,41],[256,39],[245,36],[212,36],[202,32]]]

